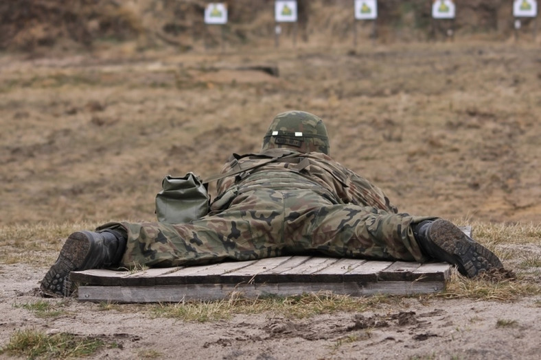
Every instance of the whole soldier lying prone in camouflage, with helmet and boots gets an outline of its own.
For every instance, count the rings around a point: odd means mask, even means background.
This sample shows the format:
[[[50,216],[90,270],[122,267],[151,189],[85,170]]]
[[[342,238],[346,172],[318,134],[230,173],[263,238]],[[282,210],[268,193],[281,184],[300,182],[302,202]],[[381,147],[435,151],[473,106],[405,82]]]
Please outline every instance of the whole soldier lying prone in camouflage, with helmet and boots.
[[[262,152],[233,154],[222,173],[220,195],[205,217],[186,224],[117,222],[96,232],[73,232],[41,290],[66,296],[71,291],[66,279],[75,270],[289,254],[437,259],[470,278],[503,269],[498,256],[450,221],[399,214],[378,187],[329,157],[325,125],[308,112],[277,115]]]

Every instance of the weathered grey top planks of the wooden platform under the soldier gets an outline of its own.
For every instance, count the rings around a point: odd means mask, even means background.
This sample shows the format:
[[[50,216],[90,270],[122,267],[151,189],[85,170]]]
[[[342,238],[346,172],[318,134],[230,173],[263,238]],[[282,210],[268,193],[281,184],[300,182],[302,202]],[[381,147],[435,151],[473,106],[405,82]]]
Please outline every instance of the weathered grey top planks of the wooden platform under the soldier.
[[[290,260],[288,260],[290,259]],[[338,273],[325,271],[329,267],[336,269],[342,259],[286,258],[277,266],[264,269],[256,274],[247,274],[242,269],[257,265],[257,261],[240,261],[237,263],[221,263],[189,267],[171,267],[162,269],[146,269],[141,272],[117,272],[106,269],[90,269],[82,272],[71,272],[70,281],[82,285],[96,286],[157,286],[188,284],[239,284],[239,283],[369,283],[375,281],[433,281],[446,280],[450,276],[450,265],[408,263],[396,261],[358,261],[351,268],[339,269]],[[288,267],[288,264],[299,264],[299,267]],[[308,266],[312,264],[312,267]],[[316,266],[313,266],[313,265]],[[285,267],[284,267],[285,266]],[[333,267],[334,266],[334,267]],[[200,270],[197,272],[196,270]],[[284,270],[285,269],[285,270]],[[284,271],[282,271],[284,270]],[[300,274],[299,274],[300,272]],[[185,276],[178,276],[184,274]]]

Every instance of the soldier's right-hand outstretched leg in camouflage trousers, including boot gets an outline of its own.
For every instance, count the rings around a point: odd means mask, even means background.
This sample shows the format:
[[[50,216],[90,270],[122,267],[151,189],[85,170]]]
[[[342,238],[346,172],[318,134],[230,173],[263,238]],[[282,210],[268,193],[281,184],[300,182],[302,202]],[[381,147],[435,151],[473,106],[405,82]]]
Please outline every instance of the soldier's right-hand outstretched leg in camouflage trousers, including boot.
[[[301,198],[308,198],[304,194]],[[303,234],[288,226],[288,239],[299,250],[315,250],[332,256],[359,259],[446,261],[457,265],[470,278],[489,269],[503,268],[498,257],[477,243],[450,221],[437,217],[387,213],[369,206],[353,204],[322,206],[314,212],[295,215],[293,225],[302,217]],[[286,219],[290,217],[286,216]],[[297,241],[295,241],[297,240]]]

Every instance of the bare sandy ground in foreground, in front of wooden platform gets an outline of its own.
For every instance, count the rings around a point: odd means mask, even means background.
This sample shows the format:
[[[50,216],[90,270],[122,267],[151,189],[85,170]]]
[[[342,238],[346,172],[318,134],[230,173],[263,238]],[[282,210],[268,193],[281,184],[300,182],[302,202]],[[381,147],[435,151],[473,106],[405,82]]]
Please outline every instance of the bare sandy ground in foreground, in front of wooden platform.
[[[1,267],[0,344],[22,328],[92,335],[119,344],[91,359],[539,359],[540,297],[517,302],[395,298],[375,311],[295,319],[276,313],[183,322],[146,307],[48,299],[65,311],[39,318],[45,268]],[[498,326],[499,322],[509,322]],[[0,355],[1,357],[1,355]]]

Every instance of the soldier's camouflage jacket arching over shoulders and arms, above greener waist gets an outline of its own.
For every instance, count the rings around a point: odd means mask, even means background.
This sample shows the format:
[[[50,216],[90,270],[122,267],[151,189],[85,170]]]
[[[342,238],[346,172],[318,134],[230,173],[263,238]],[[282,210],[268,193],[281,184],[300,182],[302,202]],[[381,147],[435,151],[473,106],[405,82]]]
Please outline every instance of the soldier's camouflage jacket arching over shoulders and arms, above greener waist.
[[[287,156],[272,163],[270,158]],[[290,149],[268,149],[260,154],[233,154],[222,167],[221,173],[239,171],[260,166],[218,181],[218,197],[211,204],[211,211],[220,211],[226,206],[227,193],[234,193],[239,184],[249,179],[251,173],[259,171],[295,171],[312,182],[321,185],[326,193],[330,192],[338,204],[356,204],[371,206],[391,213],[398,209],[391,204],[385,193],[353,171],[320,152],[308,154],[293,152]],[[272,178],[269,178],[272,182]]]

